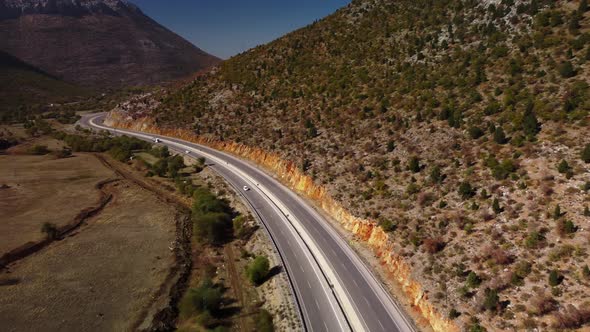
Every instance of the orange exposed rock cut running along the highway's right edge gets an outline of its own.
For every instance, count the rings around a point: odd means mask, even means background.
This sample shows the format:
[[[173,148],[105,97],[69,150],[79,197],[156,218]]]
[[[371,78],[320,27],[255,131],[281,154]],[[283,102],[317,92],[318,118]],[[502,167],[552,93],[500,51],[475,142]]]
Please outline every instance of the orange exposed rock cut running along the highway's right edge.
[[[446,319],[428,300],[422,286],[412,276],[411,266],[402,256],[396,254],[393,241],[375,221],[358,218],[350,214],[334,200],[325,188],[299,170],[290,161],[262,149],[235,142],[222,142],[195,135],[184,129],[160,128],[149,117],[133,118],[120,112],[111,112],[105,123],[122,129],[132,129],[158,135],[177,137],[186,141],[203,144],[251,160],[275,174],[291,189],[313,200],[332,218],[360,240],[366,243],[380,258],[383,269],[398,282],[411,303],[437,332],[458,331],[459,328]]]

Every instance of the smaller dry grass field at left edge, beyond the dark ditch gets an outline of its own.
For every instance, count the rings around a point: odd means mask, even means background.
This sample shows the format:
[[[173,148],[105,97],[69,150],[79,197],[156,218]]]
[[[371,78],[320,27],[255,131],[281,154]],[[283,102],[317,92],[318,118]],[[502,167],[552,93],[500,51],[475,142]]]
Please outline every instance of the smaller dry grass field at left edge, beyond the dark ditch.
[[[114,173],[90,154],[0,155],[0,186],[8,186],[0,189],[0,255],[42,239],[43,223],[70,223],[96,204],[95,185],[111,177]]]

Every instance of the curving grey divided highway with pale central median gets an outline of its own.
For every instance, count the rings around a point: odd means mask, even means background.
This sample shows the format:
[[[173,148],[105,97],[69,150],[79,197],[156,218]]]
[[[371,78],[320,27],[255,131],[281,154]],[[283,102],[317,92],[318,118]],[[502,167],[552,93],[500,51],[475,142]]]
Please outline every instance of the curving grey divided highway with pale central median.
[[[262,220],[289,276],[306,331],[416,331],[372,272],[305,200],[249,162],[177,138],[113,129],[105,114],[84,116],[86,127],[205,157]],[[244,191],[248,186],[251,190]]]

